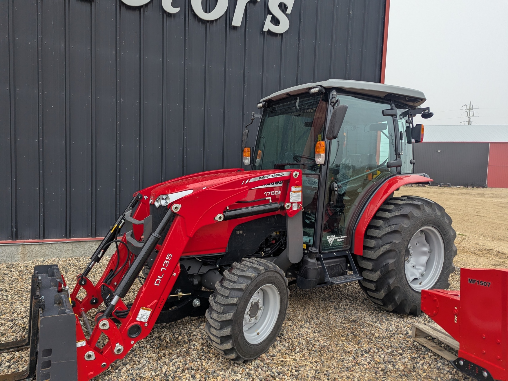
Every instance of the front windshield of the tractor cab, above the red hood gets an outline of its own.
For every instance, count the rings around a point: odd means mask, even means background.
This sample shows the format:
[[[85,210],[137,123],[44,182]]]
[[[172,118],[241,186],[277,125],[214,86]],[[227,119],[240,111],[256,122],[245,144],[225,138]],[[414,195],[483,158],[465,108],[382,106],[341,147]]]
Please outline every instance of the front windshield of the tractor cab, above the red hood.
[[[314,147],[317,141],[324,139],[326,109],[323,94],[284,98],[265,109],[253,155],[253,169],[298,166],[305,172],[319,172],[314,162]]]

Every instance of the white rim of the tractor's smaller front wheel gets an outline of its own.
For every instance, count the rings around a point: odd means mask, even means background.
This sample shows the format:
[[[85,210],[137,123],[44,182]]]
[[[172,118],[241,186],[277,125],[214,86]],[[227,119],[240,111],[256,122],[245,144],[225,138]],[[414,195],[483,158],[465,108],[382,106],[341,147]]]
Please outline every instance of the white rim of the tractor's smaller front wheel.
[[[250,298],[243,314],[243,335],[250,344],[259,344],[272,332],[280,310],[280,294],[273,284],[260,287]]]

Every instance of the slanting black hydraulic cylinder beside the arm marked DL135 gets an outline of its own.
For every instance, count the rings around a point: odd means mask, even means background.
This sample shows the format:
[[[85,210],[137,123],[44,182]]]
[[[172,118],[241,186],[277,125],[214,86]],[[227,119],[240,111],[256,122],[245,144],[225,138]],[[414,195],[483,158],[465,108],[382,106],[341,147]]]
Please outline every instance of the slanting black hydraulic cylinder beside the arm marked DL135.
[[[150,234],[148,239],[145,241],[145,244],[141,248],[141,251],[139,252],[138,257],[134,261],[134,263],[131,265],[129,270],[125,273],[122,280],[120,281],[120,284],[118,284],[118,287],[113,292],[113,300],[109,304],[108,308],[106,308],[106,311],[104,311],[103,318],[108,318],[113,310],[115,309],[116,303],[118,303],[118,300],[121,298],[124,298],[125,295],[129,292],[129,290],[132,287],[132,284],[136,280],[137,276],[139,275],[139,272],[145,265],[146,260],[150,256],[151,252],[153,251],[155,245],[157,242],[161,239],[161,234],[166,229],[166,226],[168,225],[171,217],[173,216],[173,212],[171,209],[168,209],[168,212],[162,219],[161,223],[158,225],[157,229]]]

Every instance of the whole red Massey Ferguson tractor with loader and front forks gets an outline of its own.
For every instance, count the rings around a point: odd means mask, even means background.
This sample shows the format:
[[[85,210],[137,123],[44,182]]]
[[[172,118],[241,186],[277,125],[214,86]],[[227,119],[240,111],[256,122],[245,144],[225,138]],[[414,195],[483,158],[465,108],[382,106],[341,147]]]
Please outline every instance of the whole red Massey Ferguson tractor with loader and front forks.
[[[29,367],[9,379],[91,379],[154,324],[185,316],[206,316],[222,356],[255,359],[281,330],[291,284],[359,282],[380,308],[418,315],[422,290],[449,287],[457,252],[441,206],[394,197],[431,181],[413,173],[424,134],[413,118],[433,115],[424,102],[417,90],[348,80],[262,99],[253,146],[243,132],[245,168],[136,192],[73,288],[57,265],[34,268],[28,337],[1,348],[29,347]],[[88,274],[111,245],[94,284]]]

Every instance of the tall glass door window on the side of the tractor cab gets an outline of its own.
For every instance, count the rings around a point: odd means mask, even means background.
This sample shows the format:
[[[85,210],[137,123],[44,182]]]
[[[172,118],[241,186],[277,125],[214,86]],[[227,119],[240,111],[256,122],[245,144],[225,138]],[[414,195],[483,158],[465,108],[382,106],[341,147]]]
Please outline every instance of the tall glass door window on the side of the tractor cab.
[[[396,157],[393,117],[382,113],[391,108],[390,103],[353,96],[338,99],[348,107],[330,146],[322,251],[350,246],[355,211],[376,182],[396,172],[387,167]]]

